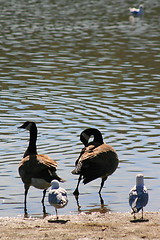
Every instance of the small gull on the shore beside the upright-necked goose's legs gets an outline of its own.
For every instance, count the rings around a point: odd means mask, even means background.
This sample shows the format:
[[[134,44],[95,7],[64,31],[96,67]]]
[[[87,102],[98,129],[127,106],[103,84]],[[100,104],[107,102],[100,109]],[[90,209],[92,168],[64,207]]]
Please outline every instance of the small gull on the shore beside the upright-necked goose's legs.
[[[57,208],[63,208],[67,205],[67,192],[64,188],[59,186],[59,182],[57,180],[53,180],[51,182],[51,189],[48,194],[48,202],[50,205],[55,207],[56,210],[56,218],[58,219]]]

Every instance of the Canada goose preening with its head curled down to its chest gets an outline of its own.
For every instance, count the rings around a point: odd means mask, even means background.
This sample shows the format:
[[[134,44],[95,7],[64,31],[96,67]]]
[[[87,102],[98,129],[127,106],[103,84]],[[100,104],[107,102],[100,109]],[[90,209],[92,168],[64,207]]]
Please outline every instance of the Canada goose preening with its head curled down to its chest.
[[[91,136],[94,139],[92,142],[89,142]],[[88,128],[84,130],[80,134],[80,140],[85,147],[82,149],[75,163],[76,167],[72,171],[72,174],[80,175],[73,194],[75,196],[79,195],[78,187],[82,178],[83,183],[86,184],[101,177],[100,195],[104,182],[118,166],[118,156],[112,146],[103,142],[102,134],[98,129]]]

